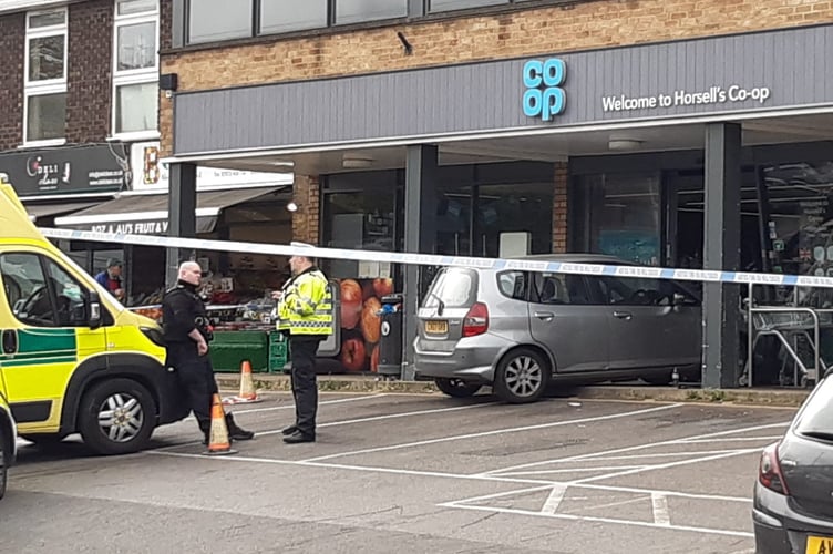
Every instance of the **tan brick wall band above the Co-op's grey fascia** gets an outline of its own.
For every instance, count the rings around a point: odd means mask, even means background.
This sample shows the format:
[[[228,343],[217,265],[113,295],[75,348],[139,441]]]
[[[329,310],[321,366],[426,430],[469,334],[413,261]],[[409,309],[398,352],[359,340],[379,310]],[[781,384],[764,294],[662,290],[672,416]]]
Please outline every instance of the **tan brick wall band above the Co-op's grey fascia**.
[[[164,2],[163,2],[164,3]],[[169,14],[167,17],[169,19]],[[163,54],[162,72],[193,91],[830,23],[830,0],[598,0]],[[405,57],[395,31],[413,44]],[[161,105],[172,146],[172,103]]]

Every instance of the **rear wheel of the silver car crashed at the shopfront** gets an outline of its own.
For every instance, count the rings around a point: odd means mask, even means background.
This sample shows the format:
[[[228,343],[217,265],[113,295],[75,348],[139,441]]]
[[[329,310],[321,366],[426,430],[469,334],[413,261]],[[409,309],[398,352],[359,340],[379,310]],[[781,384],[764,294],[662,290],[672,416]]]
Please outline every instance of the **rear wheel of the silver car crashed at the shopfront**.
[[[547,360],[531,348],[518,348],[498,363],[494,390],[506,402],[535,402],[546,390],[548,380]]]

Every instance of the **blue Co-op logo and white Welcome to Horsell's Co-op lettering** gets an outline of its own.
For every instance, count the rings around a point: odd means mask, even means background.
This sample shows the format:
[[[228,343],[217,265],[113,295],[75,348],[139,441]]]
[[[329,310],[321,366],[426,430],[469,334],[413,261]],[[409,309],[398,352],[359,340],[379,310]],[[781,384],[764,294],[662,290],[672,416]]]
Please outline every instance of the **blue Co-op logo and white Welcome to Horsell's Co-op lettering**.
[[[523,82],[524,115],[553,121],[567,107],[567,65],[564,60],[529,60],[524,64]],[[647,96],[611,94],[601,98],[603,112],[629,112],[637,110],[661,110],[664,107],[724,104],[734,102],[758,102],[763,104],[772,96],[768,86],[744,88],[739,84],[710,86],[708,91],[677,90]]]

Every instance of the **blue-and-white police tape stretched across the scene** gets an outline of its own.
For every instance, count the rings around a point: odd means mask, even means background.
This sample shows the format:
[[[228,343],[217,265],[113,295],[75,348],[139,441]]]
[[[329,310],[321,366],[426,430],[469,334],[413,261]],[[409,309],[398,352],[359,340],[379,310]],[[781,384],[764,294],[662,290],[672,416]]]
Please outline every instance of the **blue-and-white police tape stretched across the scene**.
[[[165,248],[181,248],[191,250],[235,252],[245,254],[264,254],[269,256],[308,256],[325,259],[378,261],[383,264],[457,266],[482,269],[548,271],[554,274],[635,278],[642,277],[651,279],[686,280],[699,283],[731,283],[739,285],[754,284],[833,288],[833,277],[821,275],[784,275],[709,269],[673,269],[667,267],[552,261],[534,258],[476,258],[471,256],[444,256],[439,254],[354,250],[347,248],[322,248],[307,245],[272,245],[263,243],[241,243],[235,240],[208,240],[202,238],[128,235],[123,233],[99,233],[92,230],[73,229],[41,228],[40,232],[49,238],[65,240],[120,243],[138,246],[160,246]]]

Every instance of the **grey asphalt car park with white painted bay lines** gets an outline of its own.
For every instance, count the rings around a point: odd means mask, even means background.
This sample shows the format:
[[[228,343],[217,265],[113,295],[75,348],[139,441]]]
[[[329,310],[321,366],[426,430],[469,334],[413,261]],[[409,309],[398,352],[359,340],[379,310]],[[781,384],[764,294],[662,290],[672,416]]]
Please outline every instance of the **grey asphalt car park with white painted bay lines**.
[[[235,407],[258,437],[228,456],[202,454],[194,421],[128,456],[21,444],[0,550],[753,552],[760,451],[793,414],[332,393],[318,442],[286,445],[292,410],[280,393]]]

